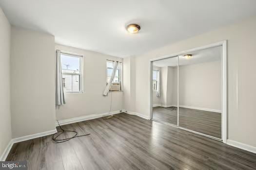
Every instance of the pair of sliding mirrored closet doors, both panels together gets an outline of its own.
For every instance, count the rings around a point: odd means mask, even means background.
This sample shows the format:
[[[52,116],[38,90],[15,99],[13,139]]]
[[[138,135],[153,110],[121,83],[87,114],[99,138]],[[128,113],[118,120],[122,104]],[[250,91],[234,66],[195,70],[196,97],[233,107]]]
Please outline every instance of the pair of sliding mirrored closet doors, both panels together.
[[[222,46],[152,62],[152,119],[222,139]]]

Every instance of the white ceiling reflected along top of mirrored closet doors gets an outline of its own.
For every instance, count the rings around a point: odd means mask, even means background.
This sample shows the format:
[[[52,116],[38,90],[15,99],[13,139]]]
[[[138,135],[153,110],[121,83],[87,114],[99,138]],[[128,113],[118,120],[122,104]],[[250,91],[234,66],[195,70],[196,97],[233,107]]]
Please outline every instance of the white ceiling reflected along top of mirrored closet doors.
[[[190,52],[192,58],[186,59],[183,55],[178,57],[170,57],[153,62],[153,66],[156,67],[167,67],[167,66],[185,66],[191,64],[205,63],[205,62],[214,62],[220,61],[222,56],[222,46]]]

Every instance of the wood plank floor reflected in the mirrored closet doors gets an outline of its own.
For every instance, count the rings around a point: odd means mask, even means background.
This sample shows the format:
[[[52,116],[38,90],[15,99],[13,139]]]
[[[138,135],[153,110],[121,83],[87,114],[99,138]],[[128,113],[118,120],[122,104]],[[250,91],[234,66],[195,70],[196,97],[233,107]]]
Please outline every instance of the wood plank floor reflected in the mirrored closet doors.
[[[153,119],[177,125],[177,107],[153,107]],[[221,139],[221,113],[179,107],[179,126]]]

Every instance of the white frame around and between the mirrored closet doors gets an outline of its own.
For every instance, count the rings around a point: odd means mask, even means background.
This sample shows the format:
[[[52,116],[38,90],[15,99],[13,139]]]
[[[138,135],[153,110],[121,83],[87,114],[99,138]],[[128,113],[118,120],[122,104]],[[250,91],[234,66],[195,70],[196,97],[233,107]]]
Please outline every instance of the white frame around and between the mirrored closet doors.
[[[170,58],[170,57],[177,57],[186,53],[190,53],[193,51],[199,51],[199,50],[204,50],[204,49],[209,49],[209,48],[213,48],[213,47],[217,47],[217,46],[222,46],[222,57],[221,57],[221,139],[218,139],[216,137],[213,136],[208,136],[205,134],[201,134],[192,130],[188,130],[182,127],[178,126],[178,107],[177,107],[177,127],[179,129],[183,129],[192,133],[196,133],[198,135],[202,135],[202,136],[206,136],[206,137],[210,137],[216,140],[221,140],[223,143],[227,143],[227,40],[224,41],[220,41],[217,43],[213,43],[213,44],[209,44],[206,46],[202,46],[202,47],[198,47],[198,48],[194,48],[194,49],[190,49],[190,50],[186,50],[186,51],[181,51],[175,54],[171,54],[171,55],[164,55],[161,57],[157,57],[154,59],[149,60],[149,83],[150,83],[150,88],[149,88],[149,94],[150,94],[150,99],[149,99],[149,110],[150,110],[150,119],[153,118],[153,92],[152,92],[152,70],[153,70],[153,61],[157,61],[157,60],[162,60],[162,59],[166,59],[166,58]],[[177,78],[178,78],[178,71],[177,71]],[[178,87],[177,87],[178,89]],[[178,97],[177,97],[177,101],[178,101]],[[178,104],[178,102],[177,102]],[[178,105],[179,106],[179,105]]]

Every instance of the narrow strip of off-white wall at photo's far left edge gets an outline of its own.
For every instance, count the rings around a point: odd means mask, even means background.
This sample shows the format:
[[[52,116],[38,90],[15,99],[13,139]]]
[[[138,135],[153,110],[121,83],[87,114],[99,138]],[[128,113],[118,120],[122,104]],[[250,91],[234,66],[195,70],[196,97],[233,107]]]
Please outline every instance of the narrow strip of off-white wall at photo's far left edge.
[[[0,156],[12,137],[10,111],[10,39],[11,26],[0,8]]]

